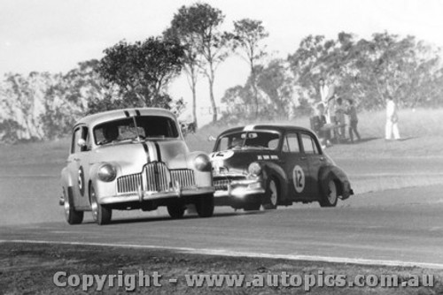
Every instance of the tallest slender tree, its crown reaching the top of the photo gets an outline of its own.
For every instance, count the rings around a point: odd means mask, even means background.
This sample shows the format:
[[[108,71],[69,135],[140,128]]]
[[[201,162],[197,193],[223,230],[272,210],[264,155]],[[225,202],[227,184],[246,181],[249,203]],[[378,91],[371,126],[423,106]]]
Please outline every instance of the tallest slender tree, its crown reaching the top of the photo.
[[[197,65],[209,82],[213,122],[217,121],[217,106],[214,99],[215,72],[221,62],[229,56],[229,34],[221,33],[219,30],[223,20],[221,10],[202,3],[182,6],[173,20],[174,26],[180,27],[178,33],[190,36],[195,45],[195,53],[205,60],[204,64]]]

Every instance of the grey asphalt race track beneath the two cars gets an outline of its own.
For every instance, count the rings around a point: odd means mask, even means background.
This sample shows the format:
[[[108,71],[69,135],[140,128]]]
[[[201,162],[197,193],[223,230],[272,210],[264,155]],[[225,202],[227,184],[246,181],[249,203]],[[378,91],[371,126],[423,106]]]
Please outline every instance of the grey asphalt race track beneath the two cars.
[[[0,227],[3,241],[159,246],[194,253],[443,268],[443,185],[365,193],[338,208],[272,211],[216,208],[214,217],[117,216],[98,226],[29,223]],[[60,208],[61,210],[61,208]],[[0,244],[1,246],[1,244]]]

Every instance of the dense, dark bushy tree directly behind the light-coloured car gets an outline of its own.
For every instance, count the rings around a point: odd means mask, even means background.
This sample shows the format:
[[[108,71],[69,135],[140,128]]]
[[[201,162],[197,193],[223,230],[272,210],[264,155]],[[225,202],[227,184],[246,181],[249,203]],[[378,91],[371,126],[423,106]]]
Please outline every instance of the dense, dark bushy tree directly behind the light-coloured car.
[[[172,40],[122,41],[105,49],[98,72],[119,87],[123,96],[120,104],[169,109],[172,99],[166,87],[181,72],[183,57],[183,46]]]

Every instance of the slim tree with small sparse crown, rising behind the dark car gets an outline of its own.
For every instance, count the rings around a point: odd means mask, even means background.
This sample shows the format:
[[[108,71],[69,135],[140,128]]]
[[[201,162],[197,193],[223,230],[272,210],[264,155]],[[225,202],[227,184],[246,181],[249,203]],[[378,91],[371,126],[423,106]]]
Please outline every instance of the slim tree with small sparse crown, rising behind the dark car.
[[[241,19],[234,22],[233,45],[234,49],[242,49],[243,57],[249,64],[251,73],[251,86],[253,87],[253,101],[255,104],[255,117],[259,115],[259,95],[256,80],[256,65],[266,55],[260,48],[260,41],[268,37],[261,20]]]

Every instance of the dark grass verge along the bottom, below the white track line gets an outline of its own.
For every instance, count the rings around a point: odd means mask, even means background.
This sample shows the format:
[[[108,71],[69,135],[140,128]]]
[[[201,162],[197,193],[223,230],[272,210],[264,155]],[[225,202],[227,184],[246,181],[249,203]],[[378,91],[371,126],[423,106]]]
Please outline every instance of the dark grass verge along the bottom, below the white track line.
[[[39,245],[4,243],[0,246],[0,293],[2,294],[77,294],[98,293],[97,284],[82,290],[78,287],[60,288],[53,283],[53,276],[59,272],[70,275],[109,275],[109,274],[144,274],[161,275],[160,287],[138,287],[141,294],[302,294],[304,286],[265,286],[265,287],[190,287],[185,275],[298,275],[300,277],[328,275],[346,276],[346,286],[313,286],[311,294],[436,294],[443,291],[443,270],[404,267],[361,266],[312,261],[287,261],[281,259],[242,258],[227,256],[198,255],[189,253],[171,253],[165,250],[114,248],[99,246]],[[411,276],[433,276],[433,287],[350,287],[348,282],[355,276],[398,276],[400,282],[406,282]],[[169,283],[177,279],[177,283]],[[66,282],[66,278],[60,281]],[[115,281],[117,282],[117,281]],[[153,283],[153,282],[152,282]],[[272,283],[272,281],[271,281]],[[423,283],[423,282],[422,282]],[[129,284],[126,284],[128,286]],[[105,284],[103,292],[119,294],[125,287],[109,287]]]

